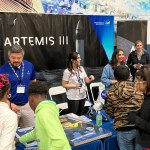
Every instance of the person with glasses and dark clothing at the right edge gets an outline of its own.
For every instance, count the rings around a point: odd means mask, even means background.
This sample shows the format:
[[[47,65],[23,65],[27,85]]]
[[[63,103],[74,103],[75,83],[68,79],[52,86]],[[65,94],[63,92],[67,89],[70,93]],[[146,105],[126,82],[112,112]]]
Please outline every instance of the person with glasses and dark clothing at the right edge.
[[[129,113],[128,120],[140,131],[137,142],[144,148],[150,148],[150,65],[142,66],[136,72],[134,82],[137,90],[144,93],[144,102],[139,111]]]

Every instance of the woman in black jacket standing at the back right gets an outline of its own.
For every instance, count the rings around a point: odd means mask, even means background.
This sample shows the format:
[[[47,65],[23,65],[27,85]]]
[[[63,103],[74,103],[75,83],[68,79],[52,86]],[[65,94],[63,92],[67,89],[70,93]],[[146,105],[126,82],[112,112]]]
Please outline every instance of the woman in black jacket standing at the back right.
[[[143,43],[139,40],[136,41],[135,48],[136,50],[129,54],[127,60],[127,65],[130,68],[133,80],[136,71],[139,70],[142,65],[150,64],[149,54],[143,49]]]

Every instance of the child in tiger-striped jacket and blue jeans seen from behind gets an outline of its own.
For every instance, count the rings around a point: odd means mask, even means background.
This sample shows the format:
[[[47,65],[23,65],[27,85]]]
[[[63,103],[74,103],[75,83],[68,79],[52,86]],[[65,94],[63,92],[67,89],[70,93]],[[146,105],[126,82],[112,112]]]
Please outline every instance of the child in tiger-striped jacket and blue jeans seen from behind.
[[[118,82],[106,93],[106,113],[114,118],[114,127],[120,150],[142,150],[136,143],[138,130],[128,122],[128,112],[139,110],[144,96],[136,91],[134,82],[128,81],[130,70],[127,66],[117,66],[114,76]]]

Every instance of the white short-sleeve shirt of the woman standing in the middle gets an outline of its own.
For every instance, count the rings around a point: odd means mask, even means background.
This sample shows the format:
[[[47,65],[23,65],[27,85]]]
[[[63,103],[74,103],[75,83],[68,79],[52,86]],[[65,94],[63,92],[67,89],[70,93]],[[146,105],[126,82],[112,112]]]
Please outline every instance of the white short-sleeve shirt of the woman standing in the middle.
[[[70,72],[68,69],[65,69],[63,73],[63,79],[64,81],[68,81],[69,84],[79,84],[79,78],[82,80],[82,88],[81,89],[67,89],[67,98],[69,100],[81,100],[86,98],[86,91],[84,90],[86,88],[84,78],[87,77],[87,74],[83,67],[80,68],[78,72]]]

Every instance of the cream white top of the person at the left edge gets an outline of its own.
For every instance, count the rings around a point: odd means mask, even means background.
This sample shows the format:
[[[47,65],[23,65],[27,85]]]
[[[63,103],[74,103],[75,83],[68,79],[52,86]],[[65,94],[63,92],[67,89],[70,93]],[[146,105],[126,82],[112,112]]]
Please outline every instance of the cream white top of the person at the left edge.
[[[13,150],[17,115],[5,102],[0,102],[0,150]]]

